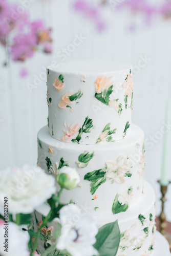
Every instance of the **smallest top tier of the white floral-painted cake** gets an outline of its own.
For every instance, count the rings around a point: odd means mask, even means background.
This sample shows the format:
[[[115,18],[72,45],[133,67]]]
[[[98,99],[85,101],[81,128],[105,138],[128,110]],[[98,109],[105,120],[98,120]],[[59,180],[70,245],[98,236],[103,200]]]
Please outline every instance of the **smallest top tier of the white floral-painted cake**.
[[[123,139],[131,127],[131,69],[117,61],[73,61],[47,69],[50,135],[80,144]]]

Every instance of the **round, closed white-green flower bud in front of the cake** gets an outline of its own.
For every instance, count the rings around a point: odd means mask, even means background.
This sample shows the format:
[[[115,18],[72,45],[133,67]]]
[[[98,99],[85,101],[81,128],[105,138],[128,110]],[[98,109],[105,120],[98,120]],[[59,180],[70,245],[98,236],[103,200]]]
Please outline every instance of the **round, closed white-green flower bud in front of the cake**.
[[[79,174],[76,169],[69,166],[63,166],[59,169],[59,173],[56,177],[58,184],[68,190],[74,189],[80,182]]]

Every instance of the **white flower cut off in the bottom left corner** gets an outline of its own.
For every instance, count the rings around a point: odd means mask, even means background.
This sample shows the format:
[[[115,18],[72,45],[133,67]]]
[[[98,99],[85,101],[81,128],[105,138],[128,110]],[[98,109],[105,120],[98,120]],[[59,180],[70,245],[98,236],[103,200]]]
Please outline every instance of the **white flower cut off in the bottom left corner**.
[[[18,225],[13,222],[8,223],[8,237],[9,237],[9,244],[8,244],[8,252],[4,251],[4,244],[5,241],[4,233],[5,233],[5,222],[0,220],[0,255],[2,256],[28,256],[29,249],[28,249],[28,242],[30,240],[28,231],[23,231],[20,229]]]

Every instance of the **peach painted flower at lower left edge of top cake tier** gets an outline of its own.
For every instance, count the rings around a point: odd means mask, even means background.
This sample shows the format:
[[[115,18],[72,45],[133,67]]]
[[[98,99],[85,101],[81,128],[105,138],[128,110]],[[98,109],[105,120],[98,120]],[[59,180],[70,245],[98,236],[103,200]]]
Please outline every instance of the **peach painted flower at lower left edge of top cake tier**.
[[[65,134],[65,136],[62,136],[60,140],[63,142],[70,142],[73,135],[75,135],[79,131],[80,125],[78,123],[74,122],[69,127],[68,123],[64,122],[64,126],[66,127],[66,131],[63,130],[63,133]]]

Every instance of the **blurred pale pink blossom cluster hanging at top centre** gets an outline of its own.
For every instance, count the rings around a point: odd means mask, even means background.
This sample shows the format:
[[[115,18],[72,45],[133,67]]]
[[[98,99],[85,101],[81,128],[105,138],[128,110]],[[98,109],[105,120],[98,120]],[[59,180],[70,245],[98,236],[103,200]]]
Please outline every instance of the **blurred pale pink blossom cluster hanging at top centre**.
[[[100,6],[92,6],[87,0],[76,0],[74,3],[74,9],[80,14],[83,14],[86,18],[90,19],[96,26],[99,32],[106,28],[106,22],[101,16]]]

